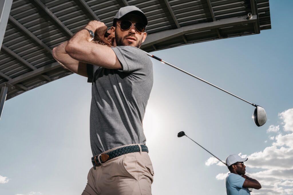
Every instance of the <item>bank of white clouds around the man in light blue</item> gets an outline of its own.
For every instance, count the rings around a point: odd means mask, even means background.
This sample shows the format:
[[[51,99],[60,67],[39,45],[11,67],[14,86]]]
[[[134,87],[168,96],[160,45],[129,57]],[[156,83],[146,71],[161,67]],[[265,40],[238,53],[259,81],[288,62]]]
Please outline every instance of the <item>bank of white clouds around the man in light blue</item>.
[[[283,130],[280,132],[279,125],[269,126],[267,132],[277,132],[278,135],[270,136],[274,140],[271,146],[262,151],[254,152],[251,155],[241,155],[242,158],[248,157],[245,162],[249,168],[260,168],[255,173],[246,173],[248,177],[255,178],[260,182],[262,188],[253,190],[257,195],[287,195],[293,194],[293,108],[278,114],[282,119]],[[284,134],[287,133],[287,134]],[[207,161],[208,162],[208,161]],[[206,162],[206,165],[207,165]],[[214,159],[210,159],[209,165],[217,164]],[[219,173],[217,180],[224,180],[227,173]]]

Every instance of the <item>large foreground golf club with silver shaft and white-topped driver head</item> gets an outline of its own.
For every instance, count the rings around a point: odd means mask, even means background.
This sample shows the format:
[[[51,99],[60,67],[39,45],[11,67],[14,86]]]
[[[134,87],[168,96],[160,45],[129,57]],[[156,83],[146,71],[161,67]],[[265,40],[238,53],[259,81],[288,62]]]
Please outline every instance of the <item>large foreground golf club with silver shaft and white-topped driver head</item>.
[[[145,53],[147,53],[147,52],[145,52]],[[243,98],[238,97],[237,95],[234,95],[233,93],[230,93],[229,91],[226,91],[226,90],[224,90],[224,89],[222,89],[222,88],[219,88],[218,86],[215,86],[214,84],[209,83],[209,82],[207,82],[207,81],[205,81],[205,80],[203,80],[203,79],[201,79],[201,78],[199,78],[199,77],[197,77],[197,76],[195,76],[195,75],[193,75],[193,74],[190,74],[189,72],[186,72],[185,70],[183,70],[183,69],[181,69],[181,68],[178,68],[178,67],[174,66],[173,64],[170,64],[170,63],[168,63],[168,62],[166,62],[166,61],[164,61],[164,60],[162,60],[162,59],[160,59],[160,58],[158,58],[158,57],[156,57],[156,56],[154,56],[154,55],[151,55],[151,54],[149,54],[149,53],[147,53],[147,55],[150,56],[150,57],[152,57],[152,58],[154,58],[154,59],[156,59],[156,60],[159,60],[160,62],[162,62],[162,63],[164,63],[164,64],[166,64],[166,65],[169,65],[169,66],[171,66],[171,67],[173,67],[173,68],[176,68],[177,70],[180,70],[181,72],[184,72],[184,73],[186,73],[186,74],[188,74],[188,75],[190,75],[190,76],[193,76],[194,78],[196,78],[196,79],[198,79],[198,80],[200,80],[200,81],[203,81],[203,82],[205,82],[205,83],[207,83],[207,84],[209,84],[209,85],[211,85],[211,86],[213,86],[213,87],[215,87],[215,88],[218,88],[218,89],[220,89],[220,90],[222,90],[222,91],[224,91],[224,92],[226,92],[226,93],[228,93],[228,94],[230,94],[230,95],[233,95],[234,97],[237,97],[238,99],[243,100],[244,102],[247,102],[248,104],[253,105],[253,106],[255,107],[255,109],[254,109],[254,112],[253,112],[253,116],[252,116],[252,118],[253,118],[254,123],[255,123],[258,127],[264,125],[265,122],[267,121],[267,114],[266,114],[266,112],[265,112],[265,109],[263,109],[263,107],[260,107],[260,106],[258,106],[258,105],[256,105],[256,104],[253,104],[253,103],[251,103],[251,102],[248,102],[248,101],[244,100]],[[183,132],[183,133],[184,133],[184,132]],[[179,135],[179,134],[178,134],[178,135]],[[179,136],[178,136],[178,137],[179,137]],[[196,143],[196,142],[195,142],[195,143]],[[216,158],[217,158],[217,157],[216,157]]]

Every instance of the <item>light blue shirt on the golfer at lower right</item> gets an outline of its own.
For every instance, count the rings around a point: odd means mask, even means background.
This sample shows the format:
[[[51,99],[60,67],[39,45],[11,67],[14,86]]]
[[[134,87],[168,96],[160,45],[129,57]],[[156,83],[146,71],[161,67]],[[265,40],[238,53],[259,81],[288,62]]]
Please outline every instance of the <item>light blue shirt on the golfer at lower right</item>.
[[[241,175],[229,173],[225,179],[227,195],[250,195],[250,191],[242,187],[244,181]]]

